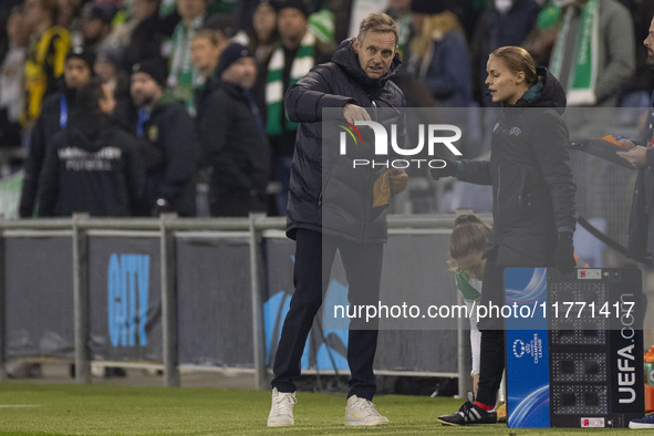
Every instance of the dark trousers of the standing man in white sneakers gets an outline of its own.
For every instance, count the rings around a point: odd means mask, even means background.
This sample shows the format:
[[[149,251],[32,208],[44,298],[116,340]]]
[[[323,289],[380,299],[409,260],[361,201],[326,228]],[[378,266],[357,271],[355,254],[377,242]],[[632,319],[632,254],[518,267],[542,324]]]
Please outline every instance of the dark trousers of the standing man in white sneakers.
[[[384,246],[357,245],[322,233],[300,229],[295,238],[295,292],[284,320],[274,356],[272,387],[279,392],[295,392],[293,383],[300,376],[300,361],[313,318],[322,305],[336,249],[340,250],[347,277],[350,304],[377,304]],[[375,390],[373,362],[377,350],[376,323],[357,329],[351,320],[347,338],[350,393],[372,399]],[[359,325],[363,326],[363,325]]]

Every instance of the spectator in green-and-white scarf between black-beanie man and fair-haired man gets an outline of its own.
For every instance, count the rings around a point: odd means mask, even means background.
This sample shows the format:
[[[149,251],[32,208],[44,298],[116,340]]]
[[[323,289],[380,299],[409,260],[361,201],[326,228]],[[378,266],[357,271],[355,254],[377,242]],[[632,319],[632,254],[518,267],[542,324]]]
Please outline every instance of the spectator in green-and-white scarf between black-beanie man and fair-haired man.
[[[181,21],[173,33],[173,53],[167,84],[176,100],[183,101],[190,114],[195,113],[193,89],[198,74],[190,60],[190,41],[205,21],[207,0],[178,0]]]

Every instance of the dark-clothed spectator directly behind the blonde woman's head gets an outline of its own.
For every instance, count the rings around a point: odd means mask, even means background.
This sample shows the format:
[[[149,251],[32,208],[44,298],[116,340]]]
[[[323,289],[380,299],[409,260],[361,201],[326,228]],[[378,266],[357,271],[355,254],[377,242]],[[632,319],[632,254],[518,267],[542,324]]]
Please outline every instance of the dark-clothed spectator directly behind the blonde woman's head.
[[[536,25],[540,7],[536,0],[494,0],[481,13],[471,43],[474,72],[478,83],[486,80],[486,62],[496,49],[505,45],[522,45]],[[478,93],[478,94],[477,94]],[[476,95],[484,106],[491,106],[490,96],[482,86]]]

